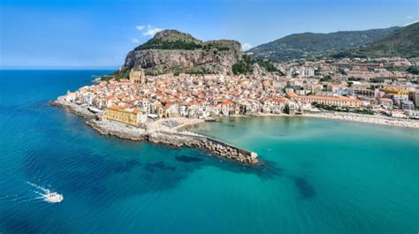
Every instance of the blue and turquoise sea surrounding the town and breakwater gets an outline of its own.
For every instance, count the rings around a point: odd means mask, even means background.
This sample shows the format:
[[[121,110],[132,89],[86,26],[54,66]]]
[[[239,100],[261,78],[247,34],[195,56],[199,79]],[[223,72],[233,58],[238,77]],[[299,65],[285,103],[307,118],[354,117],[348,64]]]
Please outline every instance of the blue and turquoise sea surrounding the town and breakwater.
[[[0,71],[0,233],[419,231],[418,130],[302,117],[193,128],[266,162],[248,168],[103,137],[47,104],[107,72]]]

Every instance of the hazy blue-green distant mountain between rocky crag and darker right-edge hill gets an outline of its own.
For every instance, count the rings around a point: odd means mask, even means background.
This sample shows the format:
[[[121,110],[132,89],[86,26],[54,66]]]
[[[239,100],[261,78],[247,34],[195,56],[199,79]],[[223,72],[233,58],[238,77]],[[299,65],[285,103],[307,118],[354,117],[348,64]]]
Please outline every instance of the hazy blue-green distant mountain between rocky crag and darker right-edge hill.
[[[291,34],[273,42],[249,49],[247,52],[260,59],[285,61],[301,57],[323,57],[345,49],[357,48],[392,34],[399,27],[341,31],[330,34]]]

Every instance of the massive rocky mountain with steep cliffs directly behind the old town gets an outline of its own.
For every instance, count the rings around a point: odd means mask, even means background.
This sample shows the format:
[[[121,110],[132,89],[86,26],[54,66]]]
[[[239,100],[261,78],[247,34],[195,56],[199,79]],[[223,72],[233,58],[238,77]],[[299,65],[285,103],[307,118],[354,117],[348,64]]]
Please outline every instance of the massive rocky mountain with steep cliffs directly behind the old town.
[[[240,42],[202,42],[191,34],[164,30],[130,51],[118,74],[126,76],[131,68],[143,68],[149,74],[232,73],[232,64],[241,59],[241,53]]]

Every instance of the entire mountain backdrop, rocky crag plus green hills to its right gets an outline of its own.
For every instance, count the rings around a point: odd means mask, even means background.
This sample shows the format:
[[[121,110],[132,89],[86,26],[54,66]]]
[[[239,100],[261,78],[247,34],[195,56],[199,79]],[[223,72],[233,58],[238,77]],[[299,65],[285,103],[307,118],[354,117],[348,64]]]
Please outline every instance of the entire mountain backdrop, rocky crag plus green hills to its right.
[[[331,34],[291,34],[249,49],[242,56],[239,42],[202,42],[191,34],[164,30],[130,51],[113,75],[126,78],[131,69],[147,74],[277,72],[270,63],[318,57],[419,57],[419,23]],[[270,61],[263,61],[268,59]]]

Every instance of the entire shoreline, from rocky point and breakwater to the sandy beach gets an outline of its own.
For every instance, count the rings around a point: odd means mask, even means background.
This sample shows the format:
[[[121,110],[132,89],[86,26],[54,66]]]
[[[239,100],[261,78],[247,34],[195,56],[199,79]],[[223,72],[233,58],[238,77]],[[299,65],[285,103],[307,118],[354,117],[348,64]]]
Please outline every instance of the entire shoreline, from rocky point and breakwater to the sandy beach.
[[[188,126],[199,125],[206,122],[203,119],[186,117],[161,118],[155,122],[149,123],[147,127],[143,129],[116,121],[96,120],[96,115],[90,112],[86,106],[80,106],[74,102],[66,102],[63,96],[58,97],[57,100],[49,103],[52,106],[63,108],[69,113],[84,118],[87,125],[102,135],[114,136],[125,140],[147,140],[151,143],[164,144],[172,147],[198,147],[209,150],[212,155],[222,156],[235,162],[243,164],[260,163],[255,152],[234,147],[224,141],[185,130]],[[339,112],[320,112],[295,116],[289,116],[284,113],[259,113],[256,115],[234,115],[231,117],[316,117],[374,125],[419,128],[419,121],[415,120]],[[219,118],[222,117],[216,117],[215,119],[217,120]]]

